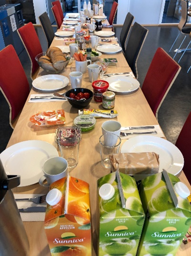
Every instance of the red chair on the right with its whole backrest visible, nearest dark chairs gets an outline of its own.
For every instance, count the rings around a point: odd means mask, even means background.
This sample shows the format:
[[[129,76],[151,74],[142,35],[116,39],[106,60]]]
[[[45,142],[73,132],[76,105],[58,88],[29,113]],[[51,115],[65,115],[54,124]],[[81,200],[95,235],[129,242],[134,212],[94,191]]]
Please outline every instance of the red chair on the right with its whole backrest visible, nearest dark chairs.
[[[142,85],[145,98],[157,119],[158,110],[180,70],[181,67],[159,47]]]

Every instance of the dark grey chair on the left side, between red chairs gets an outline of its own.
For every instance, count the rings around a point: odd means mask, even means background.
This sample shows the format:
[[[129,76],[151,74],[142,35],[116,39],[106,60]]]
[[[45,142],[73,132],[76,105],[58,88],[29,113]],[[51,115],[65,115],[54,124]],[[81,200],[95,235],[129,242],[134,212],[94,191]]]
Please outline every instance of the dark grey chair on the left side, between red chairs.
[[[50,47],[50,44],[52,44],[52,41],[54,39],[54,30],[50,22],[50,19],[47,15],[47,12],[42,13],[39,16],[39,20],[40,20],[42,29],[45,33],[46,39],[48,41],[48,47]]]

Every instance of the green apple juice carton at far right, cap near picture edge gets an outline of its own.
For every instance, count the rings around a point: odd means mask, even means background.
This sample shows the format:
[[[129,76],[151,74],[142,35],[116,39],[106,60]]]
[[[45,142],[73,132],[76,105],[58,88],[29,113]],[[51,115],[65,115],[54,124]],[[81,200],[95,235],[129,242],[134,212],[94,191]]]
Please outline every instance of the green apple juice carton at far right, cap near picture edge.
[[[187,186],[164,170],[143,179],[139,192],[146,218],[137,255],[175,255],[191,224]]]

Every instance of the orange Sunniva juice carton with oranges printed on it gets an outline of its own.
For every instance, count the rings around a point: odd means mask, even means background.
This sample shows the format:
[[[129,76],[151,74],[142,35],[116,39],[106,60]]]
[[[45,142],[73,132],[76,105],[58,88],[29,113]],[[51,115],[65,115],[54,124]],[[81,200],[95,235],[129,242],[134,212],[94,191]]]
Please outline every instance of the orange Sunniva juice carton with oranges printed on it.
[[[89,184],[64,177],[50,185],[45,232],[54,256],[92,255]]]

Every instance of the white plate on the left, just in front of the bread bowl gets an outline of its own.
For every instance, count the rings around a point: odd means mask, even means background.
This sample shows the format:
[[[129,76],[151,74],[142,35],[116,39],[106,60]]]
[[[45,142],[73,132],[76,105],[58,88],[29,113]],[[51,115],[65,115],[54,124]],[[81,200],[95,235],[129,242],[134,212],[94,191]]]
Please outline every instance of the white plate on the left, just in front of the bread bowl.
[[[63,75],[42,75],[32,81],[34,88],[41,91],[53,91],[64,88],[69,84],[69,79]]]

